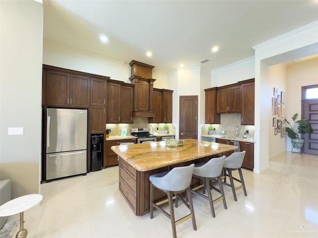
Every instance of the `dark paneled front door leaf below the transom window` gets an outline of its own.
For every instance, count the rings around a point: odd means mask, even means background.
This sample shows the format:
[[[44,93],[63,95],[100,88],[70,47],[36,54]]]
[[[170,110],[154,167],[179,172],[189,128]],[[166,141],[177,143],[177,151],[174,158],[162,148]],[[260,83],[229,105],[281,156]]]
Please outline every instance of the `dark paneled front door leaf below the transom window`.
[[[313,128],[313,133],[305,134],[304,153],[318,155],[318,100],[305,101],[303,110]]]

